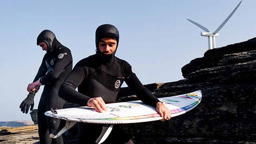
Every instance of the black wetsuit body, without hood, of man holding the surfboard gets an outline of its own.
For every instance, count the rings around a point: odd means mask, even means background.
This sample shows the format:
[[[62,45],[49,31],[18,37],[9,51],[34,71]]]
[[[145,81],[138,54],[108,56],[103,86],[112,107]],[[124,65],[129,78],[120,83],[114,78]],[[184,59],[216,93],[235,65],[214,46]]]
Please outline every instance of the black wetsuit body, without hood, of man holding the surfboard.
[[[114,103],[123,82],[134,90],[142,102],[156,107],[159,100],[141,84],[130,64],[115,56],[108,62],[97,54],[80,60],[60,87],[59,96],[85,106],[90,98],[95,97],[102,97],[106,104]],[[78,92],[75,90],[77,87]],[[102,130],[100,124],[79,123],[78,127],[79,144],[95,144]],[[119,144],[129,140],[122,131],[114,129],[104,143]]]

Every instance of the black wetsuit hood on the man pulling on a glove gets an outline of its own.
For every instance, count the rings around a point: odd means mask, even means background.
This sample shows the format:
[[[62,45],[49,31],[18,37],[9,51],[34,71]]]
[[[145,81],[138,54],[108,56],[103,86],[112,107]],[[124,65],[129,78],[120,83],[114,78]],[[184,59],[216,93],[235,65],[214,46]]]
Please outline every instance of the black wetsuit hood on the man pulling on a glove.
[[[62,46],[60,42],[55,37],[55,34],[50,30],[43,30],[37,37],[36,44],[39,46],[40,42],[45,42],[47,44],[47,51],[52,52],[53,50]]]

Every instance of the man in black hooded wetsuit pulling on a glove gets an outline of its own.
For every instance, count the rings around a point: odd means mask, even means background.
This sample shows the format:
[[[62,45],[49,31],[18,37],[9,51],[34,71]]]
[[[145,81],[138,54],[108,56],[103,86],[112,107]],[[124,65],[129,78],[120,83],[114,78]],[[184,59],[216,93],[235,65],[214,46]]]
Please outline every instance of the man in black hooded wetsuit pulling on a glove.
[[[63,144],[62,137],[50,139],[49,134],[58,128],[56,118],[46,117],[44,112],[61,109],[65,100],[58,96],[60,85],[72,70],[72,55],[70,50],[63,46],[50,30],[43,30],[37,37],[36,44],[46,50],[42,64],[33,80],[28,84],[28,96],[20,104],[21,111],[28,113],[34,107],[34,96],[40,85],[44,85],[40,102],[38,104],[37,120],[40,144]],[[31,107],[30,107],[31,106]]]

